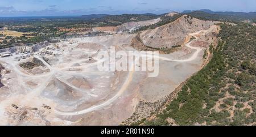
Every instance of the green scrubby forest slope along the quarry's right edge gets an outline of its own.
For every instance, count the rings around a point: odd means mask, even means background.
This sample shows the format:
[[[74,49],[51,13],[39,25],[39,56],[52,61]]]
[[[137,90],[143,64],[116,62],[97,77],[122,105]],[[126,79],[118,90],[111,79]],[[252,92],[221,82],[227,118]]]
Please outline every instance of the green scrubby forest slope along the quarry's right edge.
[[[212,60],[177,98],[134,125],[256,125],[256,27],[222,24],[219,37]]]

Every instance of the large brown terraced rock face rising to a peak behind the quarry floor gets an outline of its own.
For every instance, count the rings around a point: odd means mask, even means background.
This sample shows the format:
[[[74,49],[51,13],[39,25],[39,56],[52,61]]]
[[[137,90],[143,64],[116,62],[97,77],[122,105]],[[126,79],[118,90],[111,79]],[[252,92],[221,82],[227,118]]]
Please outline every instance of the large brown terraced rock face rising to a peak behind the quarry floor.
[[[209,29],[215,23],[220,22],[204,21],[183,15],[172,23],[143,31],[140,38],[144,45],[151,48],[172,48],[183,45],[188,33]]]

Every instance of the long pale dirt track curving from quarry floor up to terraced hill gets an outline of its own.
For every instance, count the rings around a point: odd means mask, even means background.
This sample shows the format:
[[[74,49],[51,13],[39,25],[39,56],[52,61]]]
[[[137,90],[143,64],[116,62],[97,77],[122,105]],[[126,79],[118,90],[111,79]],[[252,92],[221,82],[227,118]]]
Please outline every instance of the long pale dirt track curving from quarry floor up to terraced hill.
[[[191,35],[193,37],[196,37],[196,35],[199,34],[200,32],[191,33],[189,35]],[[195,40],[197,40],[197,38],[198,37],[196,37]],[[196,59],[198,57],[199,53],[203,49],[201,49],[199,47],[191,46],[190,45],[191,42],[188,42],[187,44],[185,44],[185,46],[187,46],[188,48],[191,48],[191,49],[195,49],[196,52],[193,53],[193,55],[190,58],[188,58],[188,59],[177,60],[177,59],[170,59],[170,58],[165,58],[165,57],[155,57],[155,59],[159,59],[159,61],[173,61],[173,62],[189,62],[189,61],[193,61],[194,59]],[[142,55],[142,56],[146,56],[146,55]],[[139,60],[138,58],[135,59],[135,62],[138,61],[138,60]],[[98,109],[104,108],[105,106],[108,106],[108,105],[112,104],[116,99],[118,99],[118,97],[120,97],[122,95],[123,92],[126,91],[126,89],[129,86],[130,82],[133,80],[134,64],[131,65],[131,69],[130,70],[131,71],[129,71],[129,74],[127,75],[127,78],[126,78],[124,84],[122,85],[121,89],[119,89],[117,94],[114,97],[112,97],[111,99],[103,102],[102,104],[94,105],[94,106],[92,106],[90,108],[87,108],[87,109],[84,109],[84,110],[80,110],[80,111],[77,111],[77,112],[60,112],[59,110],[55,109],[55,113],[58,114],[58,115],[67,115],[67,116],[81,115],[81,114],[86,114],[86,113],[92,112],[94,110],[98,110]]]

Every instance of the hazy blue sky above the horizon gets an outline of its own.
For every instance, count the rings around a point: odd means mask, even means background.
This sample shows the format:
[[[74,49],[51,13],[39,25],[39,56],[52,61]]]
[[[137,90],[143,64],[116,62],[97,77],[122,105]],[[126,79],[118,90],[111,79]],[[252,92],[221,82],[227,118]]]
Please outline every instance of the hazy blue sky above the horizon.
[[[0,0],[0,16],[133,14],[210,9],[256,11],[256,0]]]

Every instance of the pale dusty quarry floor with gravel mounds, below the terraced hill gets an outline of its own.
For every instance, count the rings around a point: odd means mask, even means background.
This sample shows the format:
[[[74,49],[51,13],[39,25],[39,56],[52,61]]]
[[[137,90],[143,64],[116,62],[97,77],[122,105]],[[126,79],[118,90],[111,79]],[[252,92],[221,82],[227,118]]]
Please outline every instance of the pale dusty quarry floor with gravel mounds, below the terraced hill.
[[[207,31],[190,35],[200,40]],[[204,47],[188,42],[182,50],[160,55],[159,75],[146,71],[98,71],[100,50],[110,46],[133,49],[136,34],[71,38],[40,49],[27,59],[21,54],[0,58],[0,125],[119,125],[134,113],[139,101],[152,102],[170,95],[197,72]],[[37,58],[44,66],[26,70],[20,63]],[[48,71],[42,71],[48,70]]]

